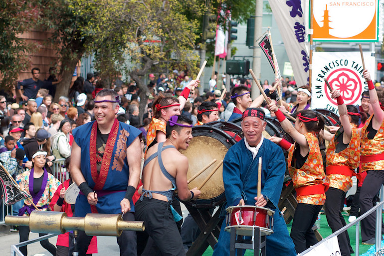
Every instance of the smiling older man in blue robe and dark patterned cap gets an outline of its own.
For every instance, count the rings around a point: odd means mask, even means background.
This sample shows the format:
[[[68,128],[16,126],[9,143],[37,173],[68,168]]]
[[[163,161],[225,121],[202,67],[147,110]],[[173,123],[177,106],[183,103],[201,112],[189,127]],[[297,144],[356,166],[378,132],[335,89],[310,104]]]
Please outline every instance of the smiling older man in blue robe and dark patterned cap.
[[[230,147],[224,157],[226,206],[252,205],[274,210],[274,233],[266,237],[266,255],[295,256],[294,244],[277,207],[283,186],[285,158],[279,146],[264,139],[264,119],[264,112],[257,108],[247,108],[242,114],[244,138]],[[257,197],[259,157],[262,158],[261,195]],[[229,255],[230,233],[224,231],[225,227],[223,222],[214,256]]]

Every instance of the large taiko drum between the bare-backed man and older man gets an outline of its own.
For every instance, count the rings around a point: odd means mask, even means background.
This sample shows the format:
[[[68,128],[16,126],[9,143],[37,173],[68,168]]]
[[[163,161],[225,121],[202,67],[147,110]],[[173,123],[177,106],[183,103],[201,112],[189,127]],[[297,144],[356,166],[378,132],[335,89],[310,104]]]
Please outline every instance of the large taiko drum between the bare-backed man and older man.
[[[188,157],[189,169],[187,179],[207,166],[213,159],[216,162],[199,174],[189,184],[188,188],[199,187],[205,178],[220,164],[228,149],[242,137],[241,128],[230,122],[216,121],[203,126],[192,128],[192,140],[186,150],[180,150]],[[196,208],[214,208],[225,201],[224,183],[222,179],[222,164],[212,177],[201,188],[200,197],[192,202],[184,202]]]

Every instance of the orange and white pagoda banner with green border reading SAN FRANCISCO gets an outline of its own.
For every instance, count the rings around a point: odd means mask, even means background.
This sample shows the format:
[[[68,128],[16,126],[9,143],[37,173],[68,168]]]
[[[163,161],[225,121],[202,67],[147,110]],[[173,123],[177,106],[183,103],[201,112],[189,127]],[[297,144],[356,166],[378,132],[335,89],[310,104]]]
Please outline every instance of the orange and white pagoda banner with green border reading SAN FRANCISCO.
[[[379,0],[312,0],[314,41],[378,41]]]

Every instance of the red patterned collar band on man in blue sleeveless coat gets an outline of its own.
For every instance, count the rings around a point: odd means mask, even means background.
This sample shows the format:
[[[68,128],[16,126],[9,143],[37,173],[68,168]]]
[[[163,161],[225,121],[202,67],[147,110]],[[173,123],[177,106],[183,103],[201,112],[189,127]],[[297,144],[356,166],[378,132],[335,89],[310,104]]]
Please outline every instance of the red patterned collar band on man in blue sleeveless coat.
[[[91,163],[92,180],[95,182],[94,190],[102,190],[107,180],[109,166],[112,162],[113,148],[115,146],[117,133],[119,131],[119,122],[115,119],[111,132],[108,135],[107,144],[105,145],[103,161],[101,163],[100,174],[97,173],[96,166],[96,135],[97,135],[97,122],[93,123],[91,129],[91,139],[89,142],[89,159]],[[92,213],[97,213],[96,206],[91,205]]]

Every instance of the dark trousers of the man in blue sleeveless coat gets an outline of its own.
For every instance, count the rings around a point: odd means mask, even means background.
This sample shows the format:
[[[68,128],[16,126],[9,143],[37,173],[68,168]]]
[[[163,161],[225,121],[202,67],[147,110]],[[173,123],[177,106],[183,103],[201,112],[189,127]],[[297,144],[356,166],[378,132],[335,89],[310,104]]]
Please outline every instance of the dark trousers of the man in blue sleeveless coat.
[[[123,216],[124,221],[134,221],[135,215],[132,212],[127,212]],[[117,244],[120,248],[120,256],[136,256],[136,232],[124,230],[120,237],[116,237]],[[88,246],[91,243],[92,236],[87,236],[84,231],[79,231],[77,236],[77,249],[79,256],[85,256],[88,250]],[[72,256],[74,249],[74,241],[72,240],[69,246],[68,256]]]

